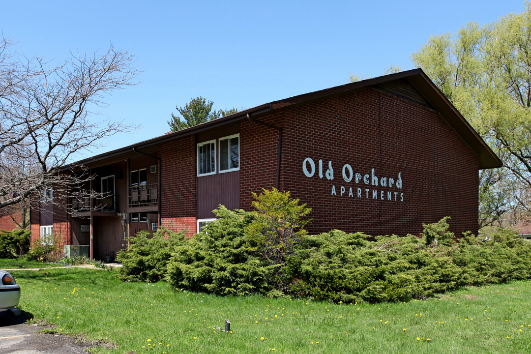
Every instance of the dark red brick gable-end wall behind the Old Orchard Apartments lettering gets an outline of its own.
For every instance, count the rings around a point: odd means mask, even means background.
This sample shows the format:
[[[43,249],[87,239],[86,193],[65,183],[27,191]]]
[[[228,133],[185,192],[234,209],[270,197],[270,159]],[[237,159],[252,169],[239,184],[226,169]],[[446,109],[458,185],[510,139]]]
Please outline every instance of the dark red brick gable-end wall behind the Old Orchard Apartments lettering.
[[[451,216],[453,232],[477,232],[478,159],[435,111],[366,89],[286,110],[284,125],[282,187],[312,208],[310,232],[337,228],[372,236],[416,234],[422,223],[445,216]],[[319,178],[317,171],[306,177],[306,157],[317,169],[322,159],[324,171],[332,161],[333,180]],[[341,175],[346,163],[362,176],[372,177],[374,169],[379,178],[397,179],[400,172],[402,188],[382,187],[380,180],[378,186],[355,183],[354,178],[347,183]],[[332,186],[337,195],[331,195]],[[350,187],[353,197],[348,196]],[[369,198],[365,189],[370,189]]]

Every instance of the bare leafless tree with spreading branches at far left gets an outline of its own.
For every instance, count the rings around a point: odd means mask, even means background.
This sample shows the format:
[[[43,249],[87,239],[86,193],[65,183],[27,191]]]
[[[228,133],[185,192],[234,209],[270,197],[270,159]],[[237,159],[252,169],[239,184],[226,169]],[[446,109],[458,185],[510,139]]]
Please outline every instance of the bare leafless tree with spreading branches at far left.
[[[101,139],[130,127],[97,122],[90,109],[138,75],[132,55],[110,45],[103,55],[73,55],[54,66],[12,51],[0,40],[0,209],[41,196],[54,186],[64,203],[87,174],[59,173],[73,154],[101,145]],[[77,192],[72,192],[77,191]]]

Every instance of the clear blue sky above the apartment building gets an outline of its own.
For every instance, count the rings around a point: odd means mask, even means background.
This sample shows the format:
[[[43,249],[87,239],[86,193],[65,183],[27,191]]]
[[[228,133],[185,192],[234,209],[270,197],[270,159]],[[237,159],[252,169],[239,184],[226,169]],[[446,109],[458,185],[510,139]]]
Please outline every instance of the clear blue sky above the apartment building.
[[[169,130],[192,97],[214,109],[251,108],[413,68],[410,55],[434,34],[523,11],[523,1],[9,1],[0,30],[26,56],[63,60],[109,43],[135,56],[134,87],[107,97],[101,116],[140,125],[79,158]]]

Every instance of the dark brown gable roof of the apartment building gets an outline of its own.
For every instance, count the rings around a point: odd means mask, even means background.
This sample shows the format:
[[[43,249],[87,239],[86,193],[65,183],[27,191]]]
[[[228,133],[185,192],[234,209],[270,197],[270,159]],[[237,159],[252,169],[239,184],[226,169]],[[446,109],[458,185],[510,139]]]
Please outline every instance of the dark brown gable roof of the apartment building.
[[[180,137],[194,135],[199,132],[223,126],[230,123],[245,120],[248,117],[268,113],[278,109],[295,107],[305,103],[322,100],[325,98],[341,96],[355,91],[363,90],[368,87],[392,91],[390,85],[393,82],[406,82],[414,90],[409,93],[402,92],[402,96],[407,99],[421,103],[428,103],[429,106],[439,111],[444,121],[453,129],[454,132],[463,140],[479,159],[479,169],[502,167],[502,161],[496,156],[492,149],[487,145],[481,136],[472,128],[467,120],[453,107],[452,103],[444,94],[435,86],[422,69],[413,69],[400,73],[389,74],[372,79],[347,83],[344,85],[332,87],[329,89],[319,90],[300,94],[298,96],[265,103],[260,106],[238,111],[234,114],[211,120],[190,128],[182,129],[177,132],[170,132],[153,139],[145,140],[136,144],[125,146],[124,148],[102,153],[97,156],[87,158],[75,163],[75,165],[86,165],[99,160],[117,157],[121,154],[131,152],[134,149],[149,148],[167,141],[178,139]],[[396,91],[393,92],[396,94]],[[68,167],[65,167],[67,169]]]

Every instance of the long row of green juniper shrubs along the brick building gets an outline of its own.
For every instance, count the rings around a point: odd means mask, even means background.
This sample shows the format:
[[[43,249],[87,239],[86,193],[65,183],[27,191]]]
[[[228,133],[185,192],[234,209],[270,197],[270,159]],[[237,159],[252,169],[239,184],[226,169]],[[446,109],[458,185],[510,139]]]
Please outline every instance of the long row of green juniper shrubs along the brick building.
[[[118,253],[119,277],[165,280],[176,289],[217,295],[262,293],[343,303],[406,301],[466,285],[531,278],[531,243],[510,230],[489,240],[471,234],[455,240],[444,218],[424,225],[423,235],[375,241],[339,230],[299,234],[292,249],[273,261],[246,234],[256,213],[224,206],[215,213],[218,219],[191,239],[164,228],[152,238],[142,232],[132,237],[129,251]]]

